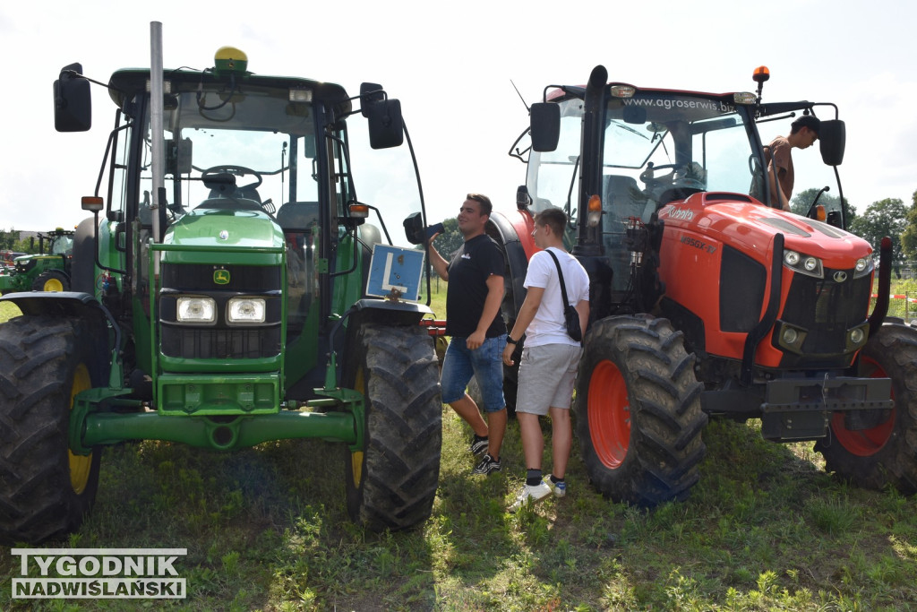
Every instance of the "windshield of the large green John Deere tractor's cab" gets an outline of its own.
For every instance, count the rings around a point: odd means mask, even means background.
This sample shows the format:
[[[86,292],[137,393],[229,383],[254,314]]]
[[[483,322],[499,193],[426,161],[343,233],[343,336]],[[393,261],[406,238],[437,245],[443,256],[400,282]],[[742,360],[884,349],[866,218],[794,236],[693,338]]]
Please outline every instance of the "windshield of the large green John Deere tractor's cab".
[[[285,202],[316,202],[314,126],[311,105],[291,102],[286,88],[172,95],[163,122],[170,204],[272,212]],[[141,218],[151,153],[146,139]]]

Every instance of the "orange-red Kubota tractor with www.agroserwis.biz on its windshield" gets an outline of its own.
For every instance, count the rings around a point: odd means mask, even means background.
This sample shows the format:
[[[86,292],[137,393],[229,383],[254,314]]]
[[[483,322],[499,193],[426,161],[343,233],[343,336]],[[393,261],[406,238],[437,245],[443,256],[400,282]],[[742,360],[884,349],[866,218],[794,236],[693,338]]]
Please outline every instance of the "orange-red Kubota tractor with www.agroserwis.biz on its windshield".
[[[503,315],[512,326],[525,298],[533,214],[565,208],[591,278],[575,428],[592,484],[616,501],[685,499],[711,416],[759,418],[767,440],[815,440],[845,480],[917,492],[917,329],[886,318],[890,240],[870,313],[874,253],[844,229],[844,123],[831,104],[762,104],[767,76],[757,95],[716,95],[609,83],[597,66],[585,86],[547,86],[510,151],[527,178],[489,227],[506,254]],[[840,197],[803,217],[770,206],[759,125],[816,109]]]

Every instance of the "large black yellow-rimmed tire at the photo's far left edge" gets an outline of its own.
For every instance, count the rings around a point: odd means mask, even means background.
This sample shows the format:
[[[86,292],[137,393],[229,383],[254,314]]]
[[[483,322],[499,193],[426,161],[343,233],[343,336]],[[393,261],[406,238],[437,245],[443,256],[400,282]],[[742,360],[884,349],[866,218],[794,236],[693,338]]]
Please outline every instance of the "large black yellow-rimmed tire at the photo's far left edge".
[[[73,396],[101,375],[80,321],[16,317],[0,325],[0,541],[72,532],[93,506],[100,451],[70,451]]]

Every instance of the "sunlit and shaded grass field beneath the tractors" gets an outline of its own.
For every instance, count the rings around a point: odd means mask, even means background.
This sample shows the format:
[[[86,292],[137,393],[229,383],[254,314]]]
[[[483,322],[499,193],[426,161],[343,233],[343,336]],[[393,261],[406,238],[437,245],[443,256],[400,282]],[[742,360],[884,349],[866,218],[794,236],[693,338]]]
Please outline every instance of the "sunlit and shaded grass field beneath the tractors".
[[[516,423],[489,477],[470,473],[470,432],[445,407],[443,434],[433,516],[409,532],[349,522],[340,445],[144,441],[105,449],[94,512],[63,545],[187,548],[188,598],[171,605],[187,610],[917,609],[915,499],[841,484],[811,443],[766,442],[757,421],[713,421],[691,498],[652,512],[592,490],[575,443],[568,496],[507,514]],[[0,549],[0,609],[153,607],[13,600],[17,572]]]

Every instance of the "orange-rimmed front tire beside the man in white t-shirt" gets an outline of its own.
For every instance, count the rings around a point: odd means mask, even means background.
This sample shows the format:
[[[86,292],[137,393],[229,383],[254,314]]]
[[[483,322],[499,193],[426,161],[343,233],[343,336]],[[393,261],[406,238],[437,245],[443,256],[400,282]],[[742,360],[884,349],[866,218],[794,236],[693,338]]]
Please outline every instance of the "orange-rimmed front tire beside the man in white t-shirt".
[[[686,499],[707,415],[681,332],[663,318],[609,317],[584,347],[573,409],[591,483],[634,506]]]

